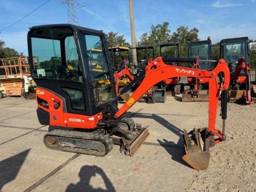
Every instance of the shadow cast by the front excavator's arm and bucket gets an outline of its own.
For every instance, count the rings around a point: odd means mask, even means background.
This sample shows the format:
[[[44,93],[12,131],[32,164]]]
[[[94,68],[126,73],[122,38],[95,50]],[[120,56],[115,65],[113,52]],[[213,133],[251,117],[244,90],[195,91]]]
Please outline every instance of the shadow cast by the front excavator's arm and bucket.
[[[127,115],[133,115],[131,112],[127,112]],[[179,137],[177,144],[173,141],[168,141],[163,139],[163,141],[157,139],[157,142],[172,156],[172,160],[179,162],[185,166],[190,167],[185,161],[182,160],[182,156],[184,153],[184,140],[183,140],[183,131],[181,131],[178,127],[166,121],[166,119],[156,115],[156,114],[144,114],[144,113],[136,113],[133,117],[138,118],[151,118],[154,119],[159,124],[163,125],[165,128],[173,132],[175,135]],[[143,126],[143,125],[142,125]]]

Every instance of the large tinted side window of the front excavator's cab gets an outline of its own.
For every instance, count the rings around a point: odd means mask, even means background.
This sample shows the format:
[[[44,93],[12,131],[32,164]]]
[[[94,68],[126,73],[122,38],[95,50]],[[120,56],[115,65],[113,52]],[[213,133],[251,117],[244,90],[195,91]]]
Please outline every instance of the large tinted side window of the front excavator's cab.
[[[69,28],[40,29],[31,32],[34,78],[84,83],[73,32]]]

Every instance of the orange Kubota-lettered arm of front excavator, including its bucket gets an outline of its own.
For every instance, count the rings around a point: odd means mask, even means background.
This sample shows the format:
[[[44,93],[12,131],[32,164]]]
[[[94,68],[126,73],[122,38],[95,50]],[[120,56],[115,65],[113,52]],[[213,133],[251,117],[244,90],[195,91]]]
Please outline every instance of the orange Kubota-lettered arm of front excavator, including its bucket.
[[[220,59],[217,66],[212,71],[199,70],[193,68],[176,67],[166,65],[164,62],[196,62],[196,59],[185,58],[162,58],[150,59],[145,67],[145,72],[137,76],[127,87],[124,92],[135,86],[141,81],[139,87],[133,92],[124,105],[116,112],[115,118],[121,117],[130,109],[139,98],[148,91],[152,86],[164,79],[172,77],[202,77],[209,80],[209,117],[208,128],[200,131],[194,129],[194,132],[187,133],[184,130],[185,153],[182,158],[195,169],[206,169],[209,164],[210,152],[209,147],[226,140],[225,136],[225,119],[227,111],[227,90],[229,88],[229,69],[225,60]],[[225,92],[225,94],[224,94]],[[123,92],[119,93],[122,94]],[[222,94],[222,132],[215,129],[218,98]],[[224,99],[225,98],[225,99]],[[216,137],[215,137],[216,136]]]

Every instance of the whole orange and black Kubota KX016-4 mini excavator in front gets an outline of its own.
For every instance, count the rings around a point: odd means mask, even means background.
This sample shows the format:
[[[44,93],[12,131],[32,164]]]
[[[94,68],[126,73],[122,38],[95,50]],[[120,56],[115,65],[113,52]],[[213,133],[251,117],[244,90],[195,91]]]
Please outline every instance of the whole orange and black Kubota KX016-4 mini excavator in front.
[[[88,51],[102,50],[97,57],[102,70],[90,70]],[[37,117],[52,131],[44,136],[50,149],[104,156],[114,143],[120,151],[133,155],[148,137],[148,128],[122,115],[153,85],[164,79],[191,76],[208,78],[209,123],[204,130],[184,130],[185,155],[182,157],[195,169],[209,164],[209,147],[226,139],[225,119],[229,70],[220,59],[212,71],[184,68],[166,62],[196,62],[196,59],[150,59],[145,70],[115,94],[115,79],[111,69],[106,39],[102,31],[70,24],[35,26],[28,31],[29,58],[37,56],[40,67],[30,62],[36,90]],[[59,57],[60,62],[52,62]],[[96,58],[95,58],[96,60]],[[214,62],[214,61],[212,61]],[[72,66],[67,68],[67,66]],[[121,108],[117,97],[140,82],[138,88]],[[219,95],[222,94],[222,131],[215,129]],[[68,130],[70,129],[70,130]],[[115,137],[112,137],[115,135]]]

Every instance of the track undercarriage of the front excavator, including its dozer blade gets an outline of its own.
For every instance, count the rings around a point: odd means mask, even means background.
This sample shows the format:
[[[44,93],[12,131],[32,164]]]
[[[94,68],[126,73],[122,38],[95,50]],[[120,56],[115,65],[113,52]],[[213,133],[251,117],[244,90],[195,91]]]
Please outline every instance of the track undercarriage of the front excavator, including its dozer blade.
[[[112,130],[115,132],[57,129],[44,135],[44,144],[54,150],[95,156],[107,155],[116,144],[120,146],[121,153],[133,156],[149,135],[148,127],[135,126],[131,118],[122,118]]]

